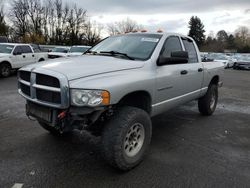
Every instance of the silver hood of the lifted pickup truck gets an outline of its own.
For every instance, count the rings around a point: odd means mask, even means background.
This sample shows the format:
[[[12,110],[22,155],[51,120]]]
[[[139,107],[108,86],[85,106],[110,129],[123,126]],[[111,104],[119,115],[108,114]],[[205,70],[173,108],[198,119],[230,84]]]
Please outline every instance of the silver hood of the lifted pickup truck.
[[[59,72],[67,76],[68,80],[75,80],[98,74],[105,74],[115,71],[129,70],[140,68],[144,65],[143,61],[133,61],[120,59],[110,56],[94,56],[84,55],[79,57],[66,57],[63,59],[55,59],[46,63],[36,63],[29,65],[24,69],[41,72],[47,69]]]

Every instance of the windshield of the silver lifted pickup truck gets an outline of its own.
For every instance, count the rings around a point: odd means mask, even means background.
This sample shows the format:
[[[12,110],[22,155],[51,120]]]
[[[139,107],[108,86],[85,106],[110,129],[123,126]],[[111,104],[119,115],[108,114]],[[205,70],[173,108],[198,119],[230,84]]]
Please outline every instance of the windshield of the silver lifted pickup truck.
[[[160,34],[125,34],[112,36],[94,46],[89,53],[147,60],[151,57],[161,37],[162,35]]]

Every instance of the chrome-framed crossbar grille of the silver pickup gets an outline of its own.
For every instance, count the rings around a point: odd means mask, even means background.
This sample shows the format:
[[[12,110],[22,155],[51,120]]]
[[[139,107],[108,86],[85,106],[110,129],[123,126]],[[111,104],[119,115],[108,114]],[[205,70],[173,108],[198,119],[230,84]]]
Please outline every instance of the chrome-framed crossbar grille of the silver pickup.
[[[51,73],[58,74],[58,73]],[[62,80],[61,80],[62,79]],[[68,106],[68,87],[66,78],[37,72],[19,71],[19,93],[26,99],[56,108]]]

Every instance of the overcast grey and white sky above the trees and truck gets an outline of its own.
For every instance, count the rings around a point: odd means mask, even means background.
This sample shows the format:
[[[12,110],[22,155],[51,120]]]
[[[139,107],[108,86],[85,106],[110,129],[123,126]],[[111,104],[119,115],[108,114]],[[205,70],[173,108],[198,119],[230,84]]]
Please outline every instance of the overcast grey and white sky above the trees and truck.
[[[194,15],[204,23],[206,34],[221,29],[233,33],[239,26],[250,27],[250,0],[74,1],[88,11],[92,20],[102,24],[129,17],[150,31],[187,34],[188,21]]]

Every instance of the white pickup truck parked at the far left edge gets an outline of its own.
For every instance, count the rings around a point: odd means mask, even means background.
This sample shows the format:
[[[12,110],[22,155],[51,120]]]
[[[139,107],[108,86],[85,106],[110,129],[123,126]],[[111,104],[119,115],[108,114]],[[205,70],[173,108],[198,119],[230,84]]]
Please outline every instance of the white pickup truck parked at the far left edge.
[[[19,69],[25,65],[44,61],[46,54],[34,53],[29,44],[0,44],[0,76],[8,77],[12,69]]]

